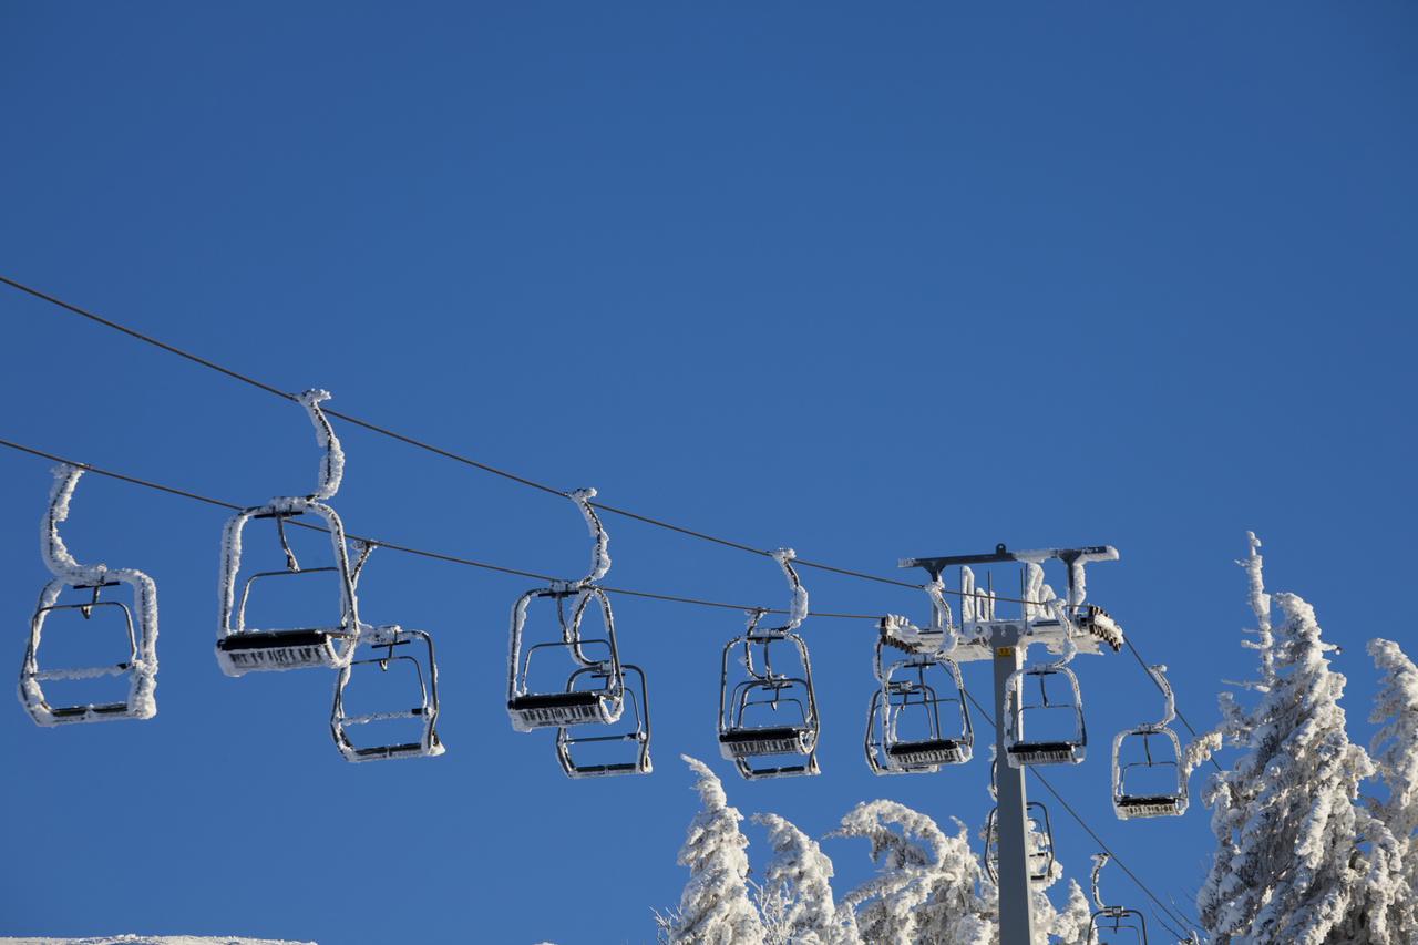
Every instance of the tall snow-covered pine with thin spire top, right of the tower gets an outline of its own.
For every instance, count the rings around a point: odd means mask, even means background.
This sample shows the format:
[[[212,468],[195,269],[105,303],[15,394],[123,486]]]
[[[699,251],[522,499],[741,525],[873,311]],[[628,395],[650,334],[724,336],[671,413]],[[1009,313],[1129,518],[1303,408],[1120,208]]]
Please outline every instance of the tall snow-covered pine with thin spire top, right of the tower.
[[[1222,698],[1225,739],[1246,753],[1204,795],[1217,853],[1197,905],[1218,945],[1350,941],[1344,927],[1363,907],[1368,877],[1358,849],[1367,817],[1356,802],[1373,765],[1349,741],[1344,677],[1324,658],[1334,647],[1320,640],[1314,609],[1276,595],[1285,621],[1272,627],[1259,542],[1251,541],[1242,565],[1259,627],[1248,646],[1261,654],[1261,678],[1248,688],[1261,698],[1249,709]]]

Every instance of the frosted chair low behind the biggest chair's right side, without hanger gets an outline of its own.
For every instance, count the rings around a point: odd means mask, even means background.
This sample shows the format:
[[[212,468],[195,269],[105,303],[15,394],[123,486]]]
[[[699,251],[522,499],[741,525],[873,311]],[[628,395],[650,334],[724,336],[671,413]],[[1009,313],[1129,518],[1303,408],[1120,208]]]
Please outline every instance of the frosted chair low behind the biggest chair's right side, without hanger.
[[[417,644],[423,644],[418,647]],[[346,761],[386,761],[390,758],[435,758],[444,753],[444,744],[438,738],[438,664],[434,660],[434,640],[423,630],[404,630],[398,626],[362,627],[360,647],[374,650],[374,656],[352,658],[339,674],[335,684],[335,707],[330,709],[330,734],[335,736],[335,746]],[[424,660],[420,661],[408,650],[421,648]],[[398,650],[398,651],[396,651]],[[428,667],[427,674],[424,665]],[[360,668],[364,667],[364,668]],[[345,708],[345,691],[352,678],[372,681],[390,671],[390,667],[406,667],[413,673],[417,684],[418,701],[411,708],[386,709],[350,715]],[[356,674],[356,668],[359,673]],[[377,670],[377,673],[374,673]],[[350,738],[349,729],[359,725],[374,725],[397,719],[417,719],[421,724],[417,741],[383,741],[373,745],[357,746]]]

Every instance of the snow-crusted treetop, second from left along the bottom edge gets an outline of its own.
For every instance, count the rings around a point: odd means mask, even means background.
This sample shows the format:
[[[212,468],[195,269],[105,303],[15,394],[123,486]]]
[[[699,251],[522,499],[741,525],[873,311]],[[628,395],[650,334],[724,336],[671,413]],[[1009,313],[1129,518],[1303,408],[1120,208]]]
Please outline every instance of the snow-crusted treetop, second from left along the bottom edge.
[[[832,861],[822,847],[777,814],[754,814],[769,829],[773,860],[759,888],[764,945],[847,945],[861,941],[851,912],[832,902]]]

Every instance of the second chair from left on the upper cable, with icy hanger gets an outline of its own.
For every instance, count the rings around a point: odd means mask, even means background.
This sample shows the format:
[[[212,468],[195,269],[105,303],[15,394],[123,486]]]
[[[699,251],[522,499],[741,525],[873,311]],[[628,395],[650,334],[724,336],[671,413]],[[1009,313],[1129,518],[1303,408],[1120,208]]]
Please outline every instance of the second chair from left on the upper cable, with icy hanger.
[[[512,606],[508,717],[512,719],[512,728],[519,732],[567,725],[611,725],[620,721],[625,708],[625,671],[615,643],[615,617],[611,613],[610,597],[596,583],[610,572],[611,558],[610,536],[591,507],[594,497],[596,490],[590,488],[570,494],[594,539],[591,572],[579,580],[557,580],[549,587],[529,590]],[[554,603],[559,634],[556,640],[527,646],[527,607],[535,600]],[[600,607],[605,623],[604,639],[588,640],[581,636],[581,619],[593,602]],[[567,674],[566,685],[554,690],[543,685],[533,690],[532,657],[547,650],[567,654],[576,668]],[[591,673],[577,675],[581,670]],[[581,678],[593,678],[597,685],[576,688],[577,680]]]

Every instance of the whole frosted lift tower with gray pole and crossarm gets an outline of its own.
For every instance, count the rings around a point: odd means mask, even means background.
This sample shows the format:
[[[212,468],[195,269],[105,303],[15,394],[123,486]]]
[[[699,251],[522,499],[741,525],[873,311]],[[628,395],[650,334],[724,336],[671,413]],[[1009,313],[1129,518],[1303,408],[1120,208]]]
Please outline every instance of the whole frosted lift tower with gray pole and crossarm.
[[[1059,560],[1068,568],[1066,600],[1031,597],[1029,565],[1042,566],[1048,560]],[[1044,762],[1021,758],[1018,753],[1011,758],[1011,748],[1018,746],[1024,738],[1018,674],[1024,667],[1028,647],[1039,643],[1051,653],[1072,656],[1075,651],[1100,654],[1103,651],[1100,644],[1113,651],[1123,646],[1123,633],[1117,623],[1100,607],[1083,603],[1086,596],[1083,566],[1095,560],[1117,560],[1117,549],[1112,545],[1093,545],[1011,552],[1004,545],[995,545],[994,553],[987,555],[908,558],[900,562],[902,568],[923,568],[932,580],[939,579],[947,568],[961,569],[960,641],[953,658],[960,663],[990,660],[994,664],[1001,945],[1029,945],[1034,938],[1024,769],[1031,763]],[[1011,562],[1020,565],[1018,599],[1024,603],[1020,604],[1017,616],[998,617],[993,586],[987,590],[976,589],[971,568]],[[1081,749],[1085,741],[1082,715],[1078,734],[1079,739],[1073,745],[1076,751],[1041,752],[1037,758],[1045,753],[1056,755],[1051,756],[1048,763],[1082,761]]]

